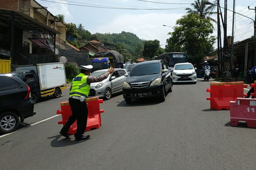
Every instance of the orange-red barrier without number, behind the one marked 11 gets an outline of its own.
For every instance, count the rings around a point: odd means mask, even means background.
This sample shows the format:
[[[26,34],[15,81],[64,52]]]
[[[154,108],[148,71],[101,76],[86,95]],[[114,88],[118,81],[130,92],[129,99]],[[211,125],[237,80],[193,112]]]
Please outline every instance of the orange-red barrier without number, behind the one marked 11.
[[[207,92],[210,92],[210,97],[207,100],[211,102],[211,109],[230,110],[230,101],[236,101],[236,98],[247,96],[244,94],[244,82],[220,82],[211,83],[210,88],[207,88]]]

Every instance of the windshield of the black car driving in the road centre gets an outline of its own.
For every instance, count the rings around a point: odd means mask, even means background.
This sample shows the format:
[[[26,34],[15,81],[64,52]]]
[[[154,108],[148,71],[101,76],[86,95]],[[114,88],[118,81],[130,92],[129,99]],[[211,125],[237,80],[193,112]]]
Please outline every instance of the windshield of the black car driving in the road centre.
[[[158,73],[160,73],[159,63],[134,65],[134,67],[130,72],[130,77],[142,76],[142,75],[148,75],[148,74],[158,74]]]

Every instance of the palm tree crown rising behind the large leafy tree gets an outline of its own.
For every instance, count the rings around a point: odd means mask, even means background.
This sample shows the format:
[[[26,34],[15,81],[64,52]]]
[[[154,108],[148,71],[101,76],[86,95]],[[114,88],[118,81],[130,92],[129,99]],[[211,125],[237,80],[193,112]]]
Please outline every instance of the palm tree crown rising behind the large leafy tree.
[[[193,8],[186,8],[187,13],[195,13],[200,15],[201,17],[205,17],[206,19],[217,23],[216,20],[209,17],[212,14],[217,14],[217,12],[212,12],[212,10],[215,8],[215,3],[212,3],[212,5],[207,6],[207,2],[209,0],[195,0],[194,3],[191,4]]]

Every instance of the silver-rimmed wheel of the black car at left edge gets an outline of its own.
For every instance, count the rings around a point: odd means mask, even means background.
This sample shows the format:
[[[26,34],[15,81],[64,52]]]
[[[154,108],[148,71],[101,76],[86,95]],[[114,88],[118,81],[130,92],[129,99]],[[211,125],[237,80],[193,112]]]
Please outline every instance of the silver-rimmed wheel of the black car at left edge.
[[[0,115],[0,133],[6,134],[15,131],[19,125],[19,117],[16,113],[5,112]]]

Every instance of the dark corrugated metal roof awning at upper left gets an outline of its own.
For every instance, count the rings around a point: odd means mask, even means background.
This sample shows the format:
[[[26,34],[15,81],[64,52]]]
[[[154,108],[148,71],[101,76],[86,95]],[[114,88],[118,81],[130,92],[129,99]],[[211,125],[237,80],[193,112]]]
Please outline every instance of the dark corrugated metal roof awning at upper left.
[[[61,34],[55,29],[52,29],[51,27],[39,22],[38,20],[35,20],[23,12],[0,9],[1,25],[12,27],[12,17],[14,17],[15,29],[35,31],[42,34]]]

